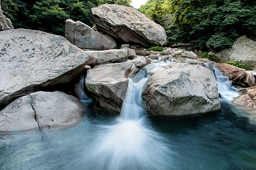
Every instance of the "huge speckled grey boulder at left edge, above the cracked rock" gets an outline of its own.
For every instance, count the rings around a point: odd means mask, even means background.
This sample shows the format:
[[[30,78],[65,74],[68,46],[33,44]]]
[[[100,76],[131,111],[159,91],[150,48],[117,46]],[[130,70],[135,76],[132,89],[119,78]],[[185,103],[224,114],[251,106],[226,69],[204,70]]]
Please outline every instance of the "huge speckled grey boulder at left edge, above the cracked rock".
[[[64,37],[28,29],[0,32],[0,111],[32,92],[79,79],[88,56]]]

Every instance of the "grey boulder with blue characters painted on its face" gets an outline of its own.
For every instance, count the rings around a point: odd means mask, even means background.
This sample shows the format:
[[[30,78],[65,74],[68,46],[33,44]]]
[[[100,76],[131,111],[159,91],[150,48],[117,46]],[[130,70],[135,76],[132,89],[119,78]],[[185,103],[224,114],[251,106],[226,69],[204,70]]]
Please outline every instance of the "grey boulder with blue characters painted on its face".
[[[94,31],[88,25],[80,21],[74,22],[72,19],[66,20],[65,38],[79,48],[105,50],[117,46],[112,37]]]

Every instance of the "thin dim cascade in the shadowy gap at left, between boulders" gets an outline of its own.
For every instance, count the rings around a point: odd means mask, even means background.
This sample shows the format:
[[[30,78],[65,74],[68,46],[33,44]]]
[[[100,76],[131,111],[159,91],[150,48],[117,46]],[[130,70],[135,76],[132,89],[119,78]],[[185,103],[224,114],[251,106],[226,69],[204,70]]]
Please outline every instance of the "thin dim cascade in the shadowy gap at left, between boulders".
[[[84,75],[81,76],[79,83],[77,83],[77,86],[75,87],[75,92],[77,97],[82,101],[84,104],[90,104],[93,102],[92,99],[86,94],[84,91]]]

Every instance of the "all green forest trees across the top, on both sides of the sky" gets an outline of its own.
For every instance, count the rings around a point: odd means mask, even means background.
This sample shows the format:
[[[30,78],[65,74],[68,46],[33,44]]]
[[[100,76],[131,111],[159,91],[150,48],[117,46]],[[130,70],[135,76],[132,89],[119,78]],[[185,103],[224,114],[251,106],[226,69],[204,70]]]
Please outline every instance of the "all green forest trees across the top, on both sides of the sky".
[[[91,9],[104,3],[130,6],[131,0],[1,0],[14,28],[36,29],[64,35],[65,20],[93,26]],[[254,0],[148,0],[139,8],[156,23],[174,15],[167,32],[168,45],[196,41],[199,49],[229,48],[237,37],[255,35]]]

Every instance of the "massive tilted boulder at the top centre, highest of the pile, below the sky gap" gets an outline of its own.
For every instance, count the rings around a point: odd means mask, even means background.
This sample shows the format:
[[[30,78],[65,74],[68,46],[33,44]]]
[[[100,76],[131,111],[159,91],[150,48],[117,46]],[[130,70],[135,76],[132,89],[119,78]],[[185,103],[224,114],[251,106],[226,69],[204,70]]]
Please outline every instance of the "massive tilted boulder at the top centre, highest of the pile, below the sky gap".
[[[134,8],[104,4],[92,8],[93,18],[99,31],[144,46],[166,44],[164,28]]]

